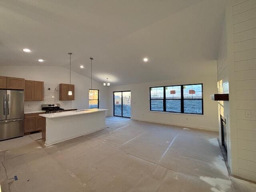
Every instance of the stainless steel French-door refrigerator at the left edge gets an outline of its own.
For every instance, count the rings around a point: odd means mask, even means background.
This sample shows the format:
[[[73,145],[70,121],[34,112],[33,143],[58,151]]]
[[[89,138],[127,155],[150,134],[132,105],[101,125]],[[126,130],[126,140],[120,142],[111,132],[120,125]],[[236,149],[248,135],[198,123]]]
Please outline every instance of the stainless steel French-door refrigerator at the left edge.
[[[24,91],[0,90],[0,141],[24,135]]]

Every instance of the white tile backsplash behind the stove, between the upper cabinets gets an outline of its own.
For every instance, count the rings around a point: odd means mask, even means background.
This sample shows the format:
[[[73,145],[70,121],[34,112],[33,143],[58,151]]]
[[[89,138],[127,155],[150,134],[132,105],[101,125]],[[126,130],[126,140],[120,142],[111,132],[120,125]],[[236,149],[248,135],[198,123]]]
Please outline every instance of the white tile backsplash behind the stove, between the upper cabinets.
[[[37,111],[42,110],[42,104],[55,104],[59,103],[60,108],[70,109],[72,108],[72,101],[60,101],[59,92],[56,90],[44,90],[43,101],[25,101],[24,111]]]

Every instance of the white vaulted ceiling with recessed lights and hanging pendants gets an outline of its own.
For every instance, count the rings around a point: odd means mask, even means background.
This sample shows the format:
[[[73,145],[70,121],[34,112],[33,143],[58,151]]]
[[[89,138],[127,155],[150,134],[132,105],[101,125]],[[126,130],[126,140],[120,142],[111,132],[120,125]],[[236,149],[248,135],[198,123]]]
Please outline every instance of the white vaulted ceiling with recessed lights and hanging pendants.
[[[73,52],[72,70],[90,77],[93,57],[99,82],[169,80],[216,59],[224,9],[224,0],[1,0],[0,65],[69,68]]]

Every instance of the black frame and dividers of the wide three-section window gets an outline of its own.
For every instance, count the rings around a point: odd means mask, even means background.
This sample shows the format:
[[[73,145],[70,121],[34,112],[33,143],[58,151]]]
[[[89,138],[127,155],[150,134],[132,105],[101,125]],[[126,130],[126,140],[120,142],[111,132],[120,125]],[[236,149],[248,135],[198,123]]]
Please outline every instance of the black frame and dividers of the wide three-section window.
[[[189,86],[189,85],[201,85],[202,86],[202,99],[184,99],[184,93],[183,93],[183,86]],[[180,86],[180,93],[181,97],[180,99],[166,99],[166,87],[174,87],[174,86]],[[164,88],[164,98],[163,99],[151,99],[151,88]],[[178,114],[195,114],[195,115],[204,115],[204,92],[203,92],[203,84],[197,83],[197,84],[182,84],[182,85],[169,85],[169,86],[156,86],[156,87],[150,87],[149,88],[149,107],[150,111],[156,111],[156,112],[166,112],[166,113],[178,113]],[[163,100],[163,110],[152,110],[151,109],[151,100]],[[166,100],[180,100],[180,112],[172,112],[172,111],[166,111]],[[202,100],[202,113],[185,113],[184,112],[184,100]]]

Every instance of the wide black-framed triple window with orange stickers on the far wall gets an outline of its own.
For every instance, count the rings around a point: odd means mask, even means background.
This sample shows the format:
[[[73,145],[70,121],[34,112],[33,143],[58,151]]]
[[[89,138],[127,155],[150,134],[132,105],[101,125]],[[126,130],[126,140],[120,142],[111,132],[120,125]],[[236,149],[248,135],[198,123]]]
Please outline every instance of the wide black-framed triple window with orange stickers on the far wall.
[[[150,88],[150,110],[203,114],[203,85],[178,85]]]

